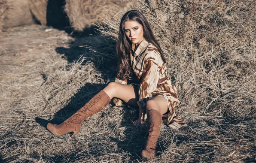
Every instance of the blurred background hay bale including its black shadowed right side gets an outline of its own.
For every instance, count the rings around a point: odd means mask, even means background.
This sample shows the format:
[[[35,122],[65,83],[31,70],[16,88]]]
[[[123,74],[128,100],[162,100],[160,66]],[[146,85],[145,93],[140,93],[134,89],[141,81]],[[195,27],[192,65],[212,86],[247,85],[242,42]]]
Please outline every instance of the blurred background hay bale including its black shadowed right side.
[[[28,0],[34,17],[42,24],[55,28],[69,26],[64,12],[65,0]]]

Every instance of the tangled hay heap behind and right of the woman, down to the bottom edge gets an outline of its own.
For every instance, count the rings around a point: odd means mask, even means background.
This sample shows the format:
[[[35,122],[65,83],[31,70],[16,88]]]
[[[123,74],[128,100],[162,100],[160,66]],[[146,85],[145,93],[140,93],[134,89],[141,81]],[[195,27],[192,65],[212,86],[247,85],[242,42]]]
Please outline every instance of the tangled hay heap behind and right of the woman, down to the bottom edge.
[[[152,0],[137,9],[146,15],[165,52],[168,75],[181,101],[178,115],[190,126],[168,140],[162,135],[159,142],[168,149],[158,161],[253,161],[254,1]],[[123,14],[106,20],[101,32],[116,39]]]

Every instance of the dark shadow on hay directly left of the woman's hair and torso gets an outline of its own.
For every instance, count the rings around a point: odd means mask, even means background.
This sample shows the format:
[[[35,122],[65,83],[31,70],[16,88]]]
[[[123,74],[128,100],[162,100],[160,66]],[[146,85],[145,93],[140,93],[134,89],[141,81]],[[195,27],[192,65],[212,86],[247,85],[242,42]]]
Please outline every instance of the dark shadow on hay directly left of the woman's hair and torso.
[[[83,57],[82,64],[92,62],[105,81],[114,80],[117,69],[116,41],[95,30],[90,27],[83,33],[73,33],[74,40],[70,42],[69,48],[57,47],[55,51],[70,63]]]

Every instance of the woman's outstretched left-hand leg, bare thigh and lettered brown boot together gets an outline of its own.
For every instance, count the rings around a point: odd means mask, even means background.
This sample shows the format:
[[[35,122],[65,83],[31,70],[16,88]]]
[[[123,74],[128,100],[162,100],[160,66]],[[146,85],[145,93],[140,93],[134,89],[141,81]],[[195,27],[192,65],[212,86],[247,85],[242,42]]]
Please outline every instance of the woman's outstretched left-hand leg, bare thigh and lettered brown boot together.
[[[75,135],[81,129],[82,121],[104,109],[113,97],[122,99],[130,105],[137,106],[138,93],[131,85],[111,82],[66,121],[58,126],[49,123],[47,124],[47,129],[55,136],[61,136],[68,132],[74,132]]]

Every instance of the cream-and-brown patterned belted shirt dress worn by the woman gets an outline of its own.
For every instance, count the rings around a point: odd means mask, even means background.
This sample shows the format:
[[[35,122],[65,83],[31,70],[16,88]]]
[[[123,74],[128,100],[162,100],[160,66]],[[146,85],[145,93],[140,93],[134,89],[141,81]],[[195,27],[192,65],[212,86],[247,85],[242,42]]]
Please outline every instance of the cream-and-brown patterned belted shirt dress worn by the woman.
[[[139,109],[145,109],[147,101],[153,97],[162,96],[168,103],[168,117],[163,118],[164,122],[173,129],[186,127],[187,125],[175,115],[174,107],[180,103],[177,89],[166,76],[167,69],[157,48],[143,39],[135,52],[134,50],[135,44],[132,44],[132,51],[129,54],[131,67],[134,71],[133,75],[141,81],[138,88]],[[158,83],[162,78],[166,79]],[[115,82],[127,84],[127,79],[123,78],[122,74],[118,74]]]

